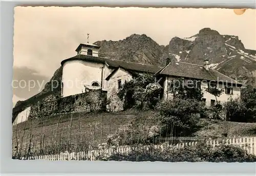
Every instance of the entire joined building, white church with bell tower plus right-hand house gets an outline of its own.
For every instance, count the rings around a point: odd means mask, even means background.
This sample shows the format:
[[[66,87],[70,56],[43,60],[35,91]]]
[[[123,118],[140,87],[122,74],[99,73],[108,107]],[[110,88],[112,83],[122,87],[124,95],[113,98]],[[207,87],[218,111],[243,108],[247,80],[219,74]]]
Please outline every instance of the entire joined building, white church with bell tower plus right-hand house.
[[[208,60],[205,60],[202,66],[167,59],[166,66],[159,67],[98,57],[99,48],[100,46],[95,44],[79,44],[76,49],[77,55],[61,62],[62,97],[80,94],[86,90],[101,89],[107,91],[112,102],[111,107],[118,111],[122,109],[122,102],[117,97],[118,88],[125,81],[141,73],[155,73],[157,78],[162,79],[160,84],[164,89],[164,99],[172,97],[168,92],[168,83],[180,77],[199,82],[207,105],[216,104],[216,98],[206,92],[204,87],[218,86],[225,89],[225,93],[218,98],[220,102],[227,101],[229,97],[240,96],[242,84],[209,68]]]

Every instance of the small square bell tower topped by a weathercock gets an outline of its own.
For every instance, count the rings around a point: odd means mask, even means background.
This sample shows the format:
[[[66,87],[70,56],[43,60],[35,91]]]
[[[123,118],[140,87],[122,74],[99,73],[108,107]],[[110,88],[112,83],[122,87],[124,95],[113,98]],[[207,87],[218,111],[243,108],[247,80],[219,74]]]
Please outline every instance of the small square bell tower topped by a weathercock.
[[[87,43],[80,43],[79,46],[76,48],[76,53],[77,55],[88,55],[98,57],[100,46],[89,43],[89,35],[90,34],[88,33]]]

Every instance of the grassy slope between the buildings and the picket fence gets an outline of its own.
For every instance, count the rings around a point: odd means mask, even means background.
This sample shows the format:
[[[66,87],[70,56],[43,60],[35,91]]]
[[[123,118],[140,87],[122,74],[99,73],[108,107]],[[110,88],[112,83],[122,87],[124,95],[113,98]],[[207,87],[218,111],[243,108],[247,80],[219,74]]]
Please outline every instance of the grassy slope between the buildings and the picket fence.
[[[42,119],[35,119],[13,126],[13,147],[16,145],[16,134],[19,143],[21,143],[24,134],[23,148],[28,148],[31,125],[33,135],[32,143],[34,144],[34,148],[37,149],[40,148],[40,138],[43,138],[44,135],[46,136],[46,145],[51,145],[53,142],[58,145],[59,141],[66,142],[68,138],[71,140],[70,143],[76,143],[79,139],[78,135],[81,141],[88,143],[88,141],[93,140],[95,145],[97,145],[98,143],[106,142],[106,136],[115,132],[121,125],[129,124],[138,118],[146,119],[151,115],[152,112],[150,111],[143,112],[141,116],[135,111],[118,113],[77,113],[72,116],[72,127],[71,114],[51,116],[48,117],[48,119],[44,119],[44,121],[42,121]],[[256,123],[224,123],[220,120],[208,121],[206,119],[200,119],[199,125],[201,126],[201,130],[196,132],[195,135],[200,137],[218,137],[225,132],[228,133],[228,137],[233,137],[234,135],[256,136]],[[71,137],[69,137],[70,127]],[[92,139],[91,136],[94,138]]]

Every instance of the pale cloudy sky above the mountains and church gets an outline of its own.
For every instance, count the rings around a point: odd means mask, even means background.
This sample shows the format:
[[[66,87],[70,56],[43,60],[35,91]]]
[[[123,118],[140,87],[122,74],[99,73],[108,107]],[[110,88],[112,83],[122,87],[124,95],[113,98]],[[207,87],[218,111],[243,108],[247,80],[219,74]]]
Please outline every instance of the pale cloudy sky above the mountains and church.
[[[60,62],[87,42],[87,33],[90,43],[146,34],[167,45],[173,37],[190,37],[203,28],[238,36],[245,48],[256,50],[255,9],[236,15],[217,8],[15,7],[13,102],[44,88]]]

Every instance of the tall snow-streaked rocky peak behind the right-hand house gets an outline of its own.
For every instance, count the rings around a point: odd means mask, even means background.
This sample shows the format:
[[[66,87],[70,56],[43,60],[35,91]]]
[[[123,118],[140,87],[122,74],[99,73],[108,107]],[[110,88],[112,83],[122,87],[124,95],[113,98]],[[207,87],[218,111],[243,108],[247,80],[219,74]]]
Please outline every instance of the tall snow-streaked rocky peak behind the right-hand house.
[[[251,71],[256,69],[256,51],[246,49],[238,36],[221,35],[210,28],[188,38],[172,38],[168,53],[178,61],[200,65],[207,58],[211,68],[241,82],[251,82]]]

